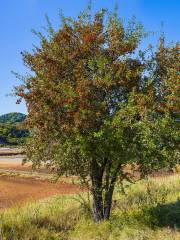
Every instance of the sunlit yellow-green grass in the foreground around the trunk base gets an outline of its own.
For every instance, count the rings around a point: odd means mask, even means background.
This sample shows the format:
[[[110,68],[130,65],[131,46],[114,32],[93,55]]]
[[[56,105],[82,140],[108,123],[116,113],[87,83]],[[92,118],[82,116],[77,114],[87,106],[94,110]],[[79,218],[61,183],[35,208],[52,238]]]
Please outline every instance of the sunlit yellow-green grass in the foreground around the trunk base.
[[[109,222],[91,221],[87,193],[53,197],[0,213],[2,240],[179,240],[180,176],[116,191]]]

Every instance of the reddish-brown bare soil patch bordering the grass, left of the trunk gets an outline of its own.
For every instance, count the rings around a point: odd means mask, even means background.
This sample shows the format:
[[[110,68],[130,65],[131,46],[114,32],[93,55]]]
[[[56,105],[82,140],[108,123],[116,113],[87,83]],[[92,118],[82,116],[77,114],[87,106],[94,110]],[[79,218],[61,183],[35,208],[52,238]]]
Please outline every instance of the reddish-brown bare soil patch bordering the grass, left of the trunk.
[[[29,200],[38,200],[58,194],[82,191],[80,187],[65,182],[51,183],[48,180],[0,176],[0,209]]]

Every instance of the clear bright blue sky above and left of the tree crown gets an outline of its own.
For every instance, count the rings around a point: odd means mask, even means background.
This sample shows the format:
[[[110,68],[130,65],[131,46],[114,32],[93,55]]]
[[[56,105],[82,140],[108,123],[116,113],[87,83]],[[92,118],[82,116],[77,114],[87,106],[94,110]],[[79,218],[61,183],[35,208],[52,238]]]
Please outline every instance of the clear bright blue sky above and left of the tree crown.
[[[135,15],[146,30],[160,32],[161,22],[167,41],[180,40],[180,0],[92,0],[93,12],[100,8],[113,9],[119,5],[119,14],[125,20]],[[41,30],[48,14],[52,24],[59,24],[58,11],[75,17],[87,6],[87,0],[4,0],[0,1],[0,115],[8,112],[26,113],[25,104],[16,105],[16,99],[6,96],[19,82],[11,70],[24,73],[20,52],[31,50],[37,43],[31,29]],[[157,35],[148,41],[155,42]]]

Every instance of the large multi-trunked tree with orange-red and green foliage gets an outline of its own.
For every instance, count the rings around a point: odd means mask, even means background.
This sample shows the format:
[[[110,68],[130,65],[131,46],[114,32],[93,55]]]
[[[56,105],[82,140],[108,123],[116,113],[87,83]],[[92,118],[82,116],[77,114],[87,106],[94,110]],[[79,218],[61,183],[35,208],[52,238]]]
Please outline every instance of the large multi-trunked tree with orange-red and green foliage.
[[[48,33],[37,33],[40,46],[22,53],[33,74],[15,89],[28,108],[27,159],[88,183],[99,222],[109,219],[118,181],[178,161],[177,119],[169,108],[178,52],[138,52],[142,25],[132,19],[125,27],[117,11],[62,16],[58,31],[48,21]],[[162,64],[163,54],[172,62]]]

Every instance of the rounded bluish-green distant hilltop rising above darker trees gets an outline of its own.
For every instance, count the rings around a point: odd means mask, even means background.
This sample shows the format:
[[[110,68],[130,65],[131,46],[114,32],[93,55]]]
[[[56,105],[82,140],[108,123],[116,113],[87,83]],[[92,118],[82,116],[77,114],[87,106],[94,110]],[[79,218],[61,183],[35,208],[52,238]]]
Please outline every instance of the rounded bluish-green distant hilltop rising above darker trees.
[[[11,112],[0,116],[0,123],[16,124],[23,122],[25,118],[23,113]]]

